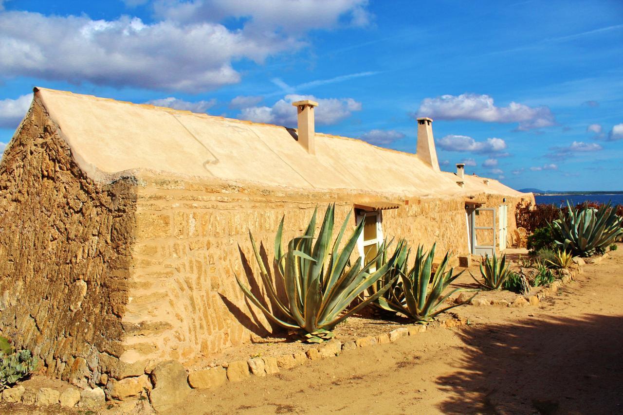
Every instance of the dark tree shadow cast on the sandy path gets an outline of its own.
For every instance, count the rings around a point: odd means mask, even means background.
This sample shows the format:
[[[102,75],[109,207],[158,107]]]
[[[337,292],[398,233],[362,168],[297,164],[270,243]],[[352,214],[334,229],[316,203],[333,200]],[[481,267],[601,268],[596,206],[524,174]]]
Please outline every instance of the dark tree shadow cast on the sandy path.
[[[469,327],[457,371],[437,378],[447,414],[623,413],[623,316]]]

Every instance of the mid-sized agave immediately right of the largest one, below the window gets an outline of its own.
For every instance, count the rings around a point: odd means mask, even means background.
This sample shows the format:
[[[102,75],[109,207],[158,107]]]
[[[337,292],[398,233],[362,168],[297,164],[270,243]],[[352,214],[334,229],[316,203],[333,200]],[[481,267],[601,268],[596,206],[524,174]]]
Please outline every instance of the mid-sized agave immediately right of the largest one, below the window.
[[[430,252],[423,250],[422,246],[417,248],[416,260],[413,267],[407,270],[407,262],[409,261],[409,249],[406,243],[399,243],[394,256],[394,270],[388,272],[389,275],[399,275],[399,280],[392,284],[391,289],[386,291],[384,295],[377,298],[379,307],[384,310],[402,313],[414,322],[427,322],[437,317],[440,313],[444,313],[454,307],[459,307],[475,297],[474,294],[464,302],[460,302],[449,307],[439,308],[450,295],[464,289],[454,289],[445,295],[444,290],[448,285],[462,274],[454,274],[454,268],[445,270],[450,254],[446,252],[444,259],[432,273],[432,261],[435,257],[435,246],[433,244]],[[393,278],[393,277],[392,277]],[[391,280],[387,280],[391,283]],[[479,290],[467,290],[479,291]]]

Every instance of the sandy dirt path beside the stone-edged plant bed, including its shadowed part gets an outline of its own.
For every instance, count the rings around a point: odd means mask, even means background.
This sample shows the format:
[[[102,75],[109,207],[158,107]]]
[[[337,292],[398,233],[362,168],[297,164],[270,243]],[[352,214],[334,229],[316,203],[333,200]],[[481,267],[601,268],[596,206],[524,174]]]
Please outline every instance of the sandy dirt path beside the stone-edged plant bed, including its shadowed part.
[[[179,414],[623,413],[623,245],[538,307],[194,391]]]

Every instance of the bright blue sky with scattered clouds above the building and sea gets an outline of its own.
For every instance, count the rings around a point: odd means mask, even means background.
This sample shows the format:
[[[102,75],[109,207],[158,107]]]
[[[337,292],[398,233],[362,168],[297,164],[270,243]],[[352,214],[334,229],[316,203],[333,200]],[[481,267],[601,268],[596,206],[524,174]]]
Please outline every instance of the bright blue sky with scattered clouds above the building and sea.
[[[295,126],[513,188],[622,189],[623,2],[0,0],[0,142],[32,87]],[[0,149],[4,145],[0,144]]]

